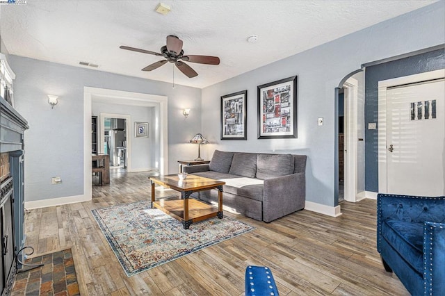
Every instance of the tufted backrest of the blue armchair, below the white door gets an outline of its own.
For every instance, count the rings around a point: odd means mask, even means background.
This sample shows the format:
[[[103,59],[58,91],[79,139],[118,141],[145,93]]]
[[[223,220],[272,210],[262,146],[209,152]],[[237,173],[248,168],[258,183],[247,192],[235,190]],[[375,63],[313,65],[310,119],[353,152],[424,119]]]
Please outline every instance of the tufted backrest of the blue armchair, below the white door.
[[[382,223],[387,220],[423,223],[445,222],[445,197],[377,195],[377,249],[380,252]]]

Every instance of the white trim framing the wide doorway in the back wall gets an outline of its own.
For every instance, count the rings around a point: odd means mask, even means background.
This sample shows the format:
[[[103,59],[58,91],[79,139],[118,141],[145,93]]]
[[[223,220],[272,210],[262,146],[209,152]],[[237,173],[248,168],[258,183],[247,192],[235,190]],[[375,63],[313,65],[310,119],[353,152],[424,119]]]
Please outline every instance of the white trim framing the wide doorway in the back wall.
[[[168,174],[168,98],[155,94],[125,92],[122,90],[107,90],[105,88],[83,88],[83,192],[91,199],[91,101],[92,99],[121,99],[129,105],[153,106],[159,104],[159,118],[156,118],[156,128],[159,128],[160,163],[159,172]],[[158,116],[158,115],[156,115]],[[129,135],[130,136],[130,135]]]

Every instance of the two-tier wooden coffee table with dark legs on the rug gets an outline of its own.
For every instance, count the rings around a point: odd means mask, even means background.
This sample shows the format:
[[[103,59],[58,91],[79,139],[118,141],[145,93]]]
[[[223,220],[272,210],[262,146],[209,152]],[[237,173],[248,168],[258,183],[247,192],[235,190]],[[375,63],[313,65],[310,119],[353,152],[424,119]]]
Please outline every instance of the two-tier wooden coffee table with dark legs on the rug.
[[[218,216],[223,219],[223,185],[225,182],[191,174],[184,181],[179,180],[177,174],[150,176],[149,180],[152,183],[152,208],[159,208],[181,221],[184,229],[188,229],[193,222],[206,220],[210,217]],[[181,199],[155,201],[154,188],[156,184],[181,192]],[[218,190],[218,208],[190,198],[193,192],[212,189]]]

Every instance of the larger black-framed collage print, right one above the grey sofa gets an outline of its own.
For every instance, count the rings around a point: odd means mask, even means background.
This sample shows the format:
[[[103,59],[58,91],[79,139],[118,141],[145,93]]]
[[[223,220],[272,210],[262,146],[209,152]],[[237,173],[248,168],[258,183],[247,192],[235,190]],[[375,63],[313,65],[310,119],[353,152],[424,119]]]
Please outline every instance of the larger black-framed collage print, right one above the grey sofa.
[[[258,86],[258,138],[297,138],[297,76]]]

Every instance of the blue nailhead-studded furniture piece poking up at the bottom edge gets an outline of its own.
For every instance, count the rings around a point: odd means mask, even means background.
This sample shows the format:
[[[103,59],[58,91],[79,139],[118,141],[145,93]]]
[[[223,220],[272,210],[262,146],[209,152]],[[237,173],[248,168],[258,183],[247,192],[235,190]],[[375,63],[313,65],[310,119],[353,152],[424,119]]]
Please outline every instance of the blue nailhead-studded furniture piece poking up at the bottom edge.
[[[265,266],[245,268],[245,296],[277,296],[278,289],[272,271]]]

